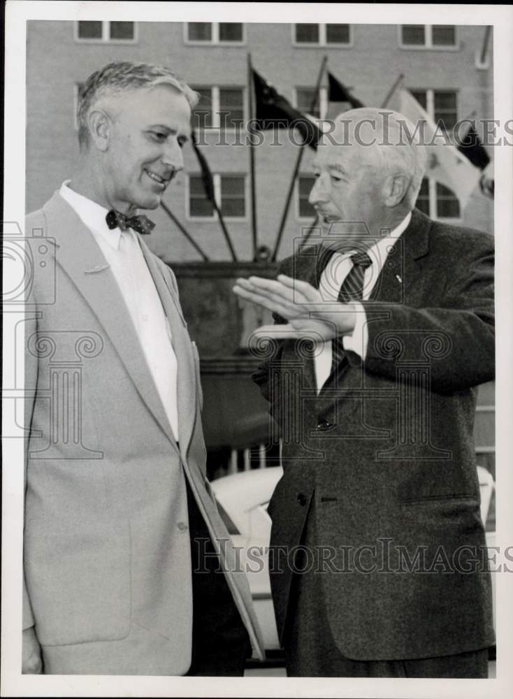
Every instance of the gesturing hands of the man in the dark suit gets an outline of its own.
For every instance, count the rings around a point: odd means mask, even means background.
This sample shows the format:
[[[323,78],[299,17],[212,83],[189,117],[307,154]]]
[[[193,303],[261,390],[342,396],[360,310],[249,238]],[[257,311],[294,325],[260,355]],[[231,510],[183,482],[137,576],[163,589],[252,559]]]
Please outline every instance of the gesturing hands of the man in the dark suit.
[[[256,336],[331,340],[338,333],[354,329],[355,310],[351,304],[326,301],[312,284],[278,275],[238,279],[233,291],[246,301],[267,308],[289,321],[286,325],[264,325]]]

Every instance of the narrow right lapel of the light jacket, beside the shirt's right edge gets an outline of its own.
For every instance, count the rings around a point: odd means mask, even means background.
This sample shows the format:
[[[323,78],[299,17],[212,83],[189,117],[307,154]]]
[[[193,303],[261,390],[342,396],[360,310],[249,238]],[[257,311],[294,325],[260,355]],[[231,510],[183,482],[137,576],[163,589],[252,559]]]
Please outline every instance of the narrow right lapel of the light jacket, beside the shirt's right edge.
[[[183,459],[185,459],[196,417],[196,371],[194,368],[192,343],[175,290],[167,283],[157,260],[148,250],[147,245],[143,243],[143,240],[140,240],[140,247],[143,250],[146,264],[157,287],[171,327],[173,349],[178,361],[178,432],[180,452]]]

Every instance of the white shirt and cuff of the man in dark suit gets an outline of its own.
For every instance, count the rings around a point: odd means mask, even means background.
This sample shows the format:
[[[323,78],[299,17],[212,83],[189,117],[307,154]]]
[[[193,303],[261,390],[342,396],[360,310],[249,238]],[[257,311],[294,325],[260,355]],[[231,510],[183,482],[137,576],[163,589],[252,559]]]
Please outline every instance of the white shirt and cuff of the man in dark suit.
[[[365,301],[369,298],[371,291],[373,290],[377,278],[380,276],[384,262],[386,260],[393,243],[399,238],[401,233],[407,229],[408,224],[410,224],[410,219],[412,218],[412,213],[410,212],[403,221],[396,226],[393,231],[386,236],[386,238],[380,238],[380,240],[375,243],[372,247],[368,249],[368,256],[370,257],[370,266],[365,271],[365,276],[363,277],[363,295],[362,298]],[[319,291],[321,291],[322,297],[326,300],[336,301],[338,299],[338,292],[342,286],[345,278],[352,269],[351,255],[357,252],[356,250],[349,250],[349,252],[335,252],[331,257],[330,261],[324,268],[321,275],[321,280],[319,282]],[[344,349],[350,349],[352,352],[359,354],[362,359],[365,359],[367,354],[367,343],[368,343],[368,329],[366,322],[366,312],[363,310],[361,303],[357,301],[354,302],[356,307],[356,324],[354,330],[350,335],[344,336],[342,338],[342,345]],[[315,349],[315,378],[317,382],[317,393],[321,390],[324,383],[331,374],[331,361],[332,361],[332,349],[331,340],[327,340],[324,343],[319,343]]]

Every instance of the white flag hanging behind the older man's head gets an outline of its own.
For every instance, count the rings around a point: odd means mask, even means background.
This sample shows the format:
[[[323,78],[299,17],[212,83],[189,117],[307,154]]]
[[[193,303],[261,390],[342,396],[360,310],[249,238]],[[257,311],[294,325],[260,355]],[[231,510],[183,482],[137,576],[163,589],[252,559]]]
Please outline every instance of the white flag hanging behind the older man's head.
[[[441,128],[404,88],[400,90],[399,111],[419,129],[422,143],[426,147],[426,175],[449,187],[458,197],[461,206],[465,207],[481,177],[479,168],[448,142]]]

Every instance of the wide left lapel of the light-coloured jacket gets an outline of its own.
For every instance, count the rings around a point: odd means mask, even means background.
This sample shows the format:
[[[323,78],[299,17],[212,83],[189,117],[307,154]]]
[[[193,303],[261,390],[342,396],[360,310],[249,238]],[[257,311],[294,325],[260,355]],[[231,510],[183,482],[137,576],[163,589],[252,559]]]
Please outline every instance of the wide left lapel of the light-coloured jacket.
[[[57,242],[57,264],[92,308],[141,399],[166,435],[173,440],[164,405],[154,387],[129,310],[92,233],[58,192],[43,210],[48,220],[48,234]]]

